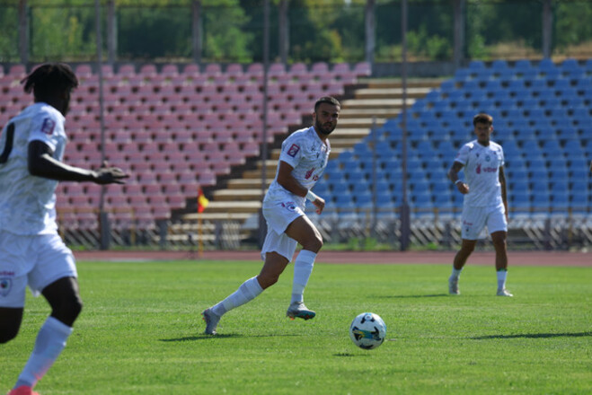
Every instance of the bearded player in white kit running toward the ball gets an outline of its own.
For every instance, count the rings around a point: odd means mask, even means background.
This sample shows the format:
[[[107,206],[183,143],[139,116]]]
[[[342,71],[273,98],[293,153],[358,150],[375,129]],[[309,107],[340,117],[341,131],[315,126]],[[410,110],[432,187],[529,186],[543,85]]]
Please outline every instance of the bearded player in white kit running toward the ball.
[[[261,249],[264,260],[259,276],[254,276],[239,286],[222,302],[202,312],[208,335],[216,335],[218,321],[225,312],[252,301],[264,289],[278,281],[296,251],[296,242],[302,245],[294,261],[292,300],[286,315],[291,319],[310,320],[315,312],[305,306],[303,294],[313,272],[316,254],[323,247],[323,238],[305,215],[306,199],[321,214],[325,201],[311,191],[321,178],[331,145],[327,138],[337,126],[340,102],[324,96],[314,103],[314,126],[300,129],[282,143],[276,178],[269,185],[263,199],[263,215],[268,233]]]

